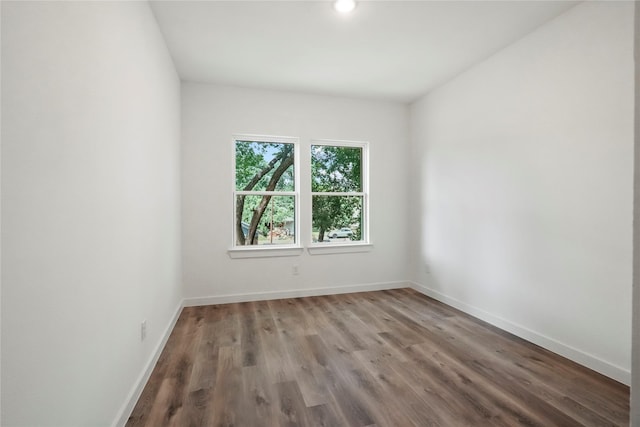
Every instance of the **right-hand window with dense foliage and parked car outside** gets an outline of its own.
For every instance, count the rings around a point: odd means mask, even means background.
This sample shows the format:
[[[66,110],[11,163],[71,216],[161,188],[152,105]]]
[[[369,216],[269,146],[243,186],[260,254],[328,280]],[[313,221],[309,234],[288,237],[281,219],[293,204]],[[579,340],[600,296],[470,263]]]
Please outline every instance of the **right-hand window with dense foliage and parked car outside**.
[[[313,243],[367,243],[367,144],[311,145]]]

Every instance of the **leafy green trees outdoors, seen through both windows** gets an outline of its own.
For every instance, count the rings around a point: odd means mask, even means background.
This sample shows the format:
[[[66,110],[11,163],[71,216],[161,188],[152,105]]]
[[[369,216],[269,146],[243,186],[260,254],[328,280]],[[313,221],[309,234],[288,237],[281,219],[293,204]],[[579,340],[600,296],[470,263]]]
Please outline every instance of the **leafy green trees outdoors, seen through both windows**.
[[[293,144],[236,141],[236,190],[294,191],[293,155]],[[313,192],[362,192],[362,148],[312,146],[311,174]],[[315,195],[312,198],[312,222],[314,229],[319,230],[320,241],[325,232],[342,227],[352,228],[352,240],[361,240],[362,212],[363,197],[359,195]],[[266,235],[272,218],[274,228],[285,227],[285,224],[292,228],[290,222],[294,216],[293,196],[239,195],[236,199],[238,244],[257,244],[256,233]],[[246,240],[241,231],[242,223],[250,225]]]

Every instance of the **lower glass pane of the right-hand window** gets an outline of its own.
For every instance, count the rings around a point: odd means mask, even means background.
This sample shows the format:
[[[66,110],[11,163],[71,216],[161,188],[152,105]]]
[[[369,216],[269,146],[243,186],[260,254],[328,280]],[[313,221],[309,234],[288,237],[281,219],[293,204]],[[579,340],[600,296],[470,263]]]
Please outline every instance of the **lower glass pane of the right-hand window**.
[[[362,241],[362,196],[313,196],[312,241]]]

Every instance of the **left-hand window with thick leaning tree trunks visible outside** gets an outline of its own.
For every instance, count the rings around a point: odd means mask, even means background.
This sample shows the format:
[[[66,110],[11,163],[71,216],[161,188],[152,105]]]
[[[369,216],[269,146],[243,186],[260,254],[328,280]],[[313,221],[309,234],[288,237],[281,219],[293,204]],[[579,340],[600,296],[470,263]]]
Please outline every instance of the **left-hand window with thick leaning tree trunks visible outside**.
[[[235,247],[297,245],[295,138],[239,135],[235,143]]]

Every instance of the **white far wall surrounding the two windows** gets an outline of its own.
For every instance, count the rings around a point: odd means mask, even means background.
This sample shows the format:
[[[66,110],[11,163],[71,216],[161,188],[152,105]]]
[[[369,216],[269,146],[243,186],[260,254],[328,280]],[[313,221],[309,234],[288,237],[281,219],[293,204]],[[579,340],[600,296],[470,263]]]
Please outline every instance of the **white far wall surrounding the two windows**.
[[[183,281],[185,297],[198,298],[187,303],[223,301],[220,297],[242,294],[303,295],[320,288],[335,287],[332,292],[338,292],[357,285],[404,284],[406,106],[183,83],[182,120]],[[300,137],[303,149],[308,149],[311,138],[369,141],[373,250],[229,258],[234,133]],[[303,188],[310,185],[308,176],[301,178]],[[308,206],[310,201],[306,198],[301,203]],[[310,233],[308,218],[301,221],[307,221]],[[293,265],[299,265],[297,276],[292,274]]]

